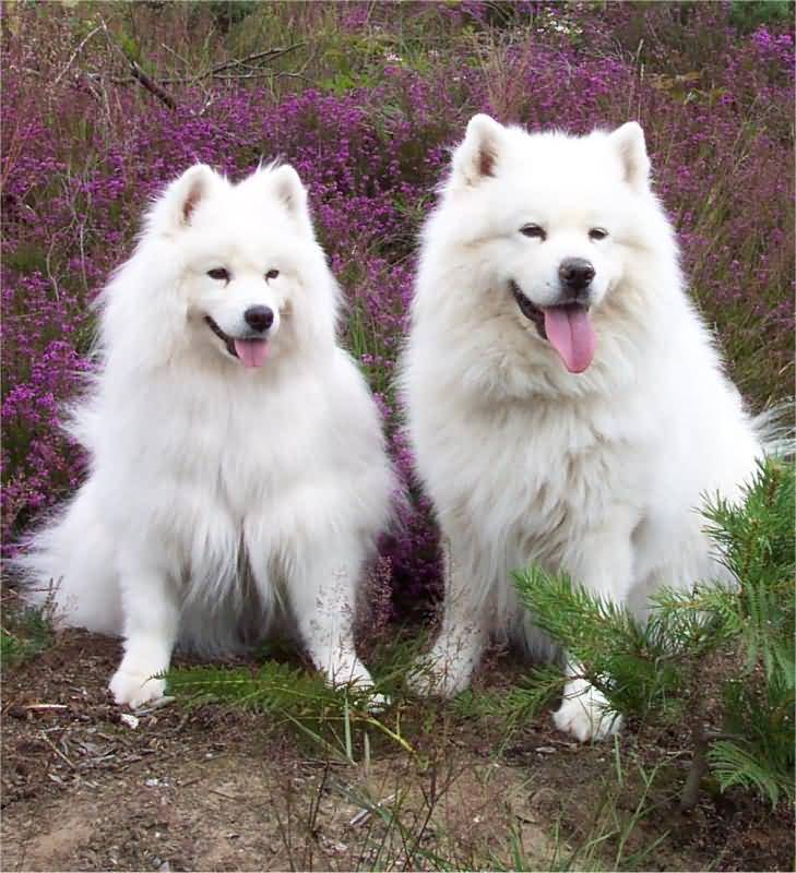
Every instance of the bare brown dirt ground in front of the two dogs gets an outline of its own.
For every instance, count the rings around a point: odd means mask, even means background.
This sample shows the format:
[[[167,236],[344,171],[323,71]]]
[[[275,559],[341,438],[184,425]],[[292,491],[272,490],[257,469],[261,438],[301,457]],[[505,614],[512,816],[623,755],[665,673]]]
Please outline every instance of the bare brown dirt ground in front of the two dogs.
[[[69,631],[4,670],[2,870],[610,869],[619,838],[599,852],[590,840],[638,804],[638,780],[608,778],[609,746],[571,743],[547,716],[507,738],[417,704],[407,731],[421,762],[377,743],[367,765],[324,760],[273,718],[219,707],[174,703],[132,728],[105,690],[118,654],[116,641]],[[515,667],[490,670],[494,682]],[[623,742],[641,748],[632,732]],[[656,785],[621,866],[793,868],[788,810],[706,791],[684,816],[681,778],[673,764]],[[364,798],[400,806],[403,825],[364,812]]]

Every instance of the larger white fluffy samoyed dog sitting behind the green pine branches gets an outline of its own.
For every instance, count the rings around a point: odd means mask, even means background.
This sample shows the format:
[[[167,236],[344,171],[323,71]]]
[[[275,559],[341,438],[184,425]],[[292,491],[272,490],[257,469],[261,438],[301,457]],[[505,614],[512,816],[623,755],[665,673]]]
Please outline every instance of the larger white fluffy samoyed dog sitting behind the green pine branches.
[[[737,498],[761,439],[686,294],[639,124],[471,120],[423,232],[402,380],[449,551],[420,691],[465,687],[490,635],[549,656],[510,581],[531,562],[641,615],[657,585],[723,576],[698,509]],[[556,725],[617,730],[568,668]]]

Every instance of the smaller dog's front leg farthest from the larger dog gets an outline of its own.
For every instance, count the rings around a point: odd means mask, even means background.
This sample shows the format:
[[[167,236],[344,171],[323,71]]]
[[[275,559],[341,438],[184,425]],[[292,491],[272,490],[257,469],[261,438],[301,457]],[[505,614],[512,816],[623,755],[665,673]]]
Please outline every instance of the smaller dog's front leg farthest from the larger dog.
[[[119,579],[124,656],[109,689],[118,704],[134,708],[163,696],[165,682],[153,677],[171,661],[180,609],[171,581],[159,569],[128,562]]]

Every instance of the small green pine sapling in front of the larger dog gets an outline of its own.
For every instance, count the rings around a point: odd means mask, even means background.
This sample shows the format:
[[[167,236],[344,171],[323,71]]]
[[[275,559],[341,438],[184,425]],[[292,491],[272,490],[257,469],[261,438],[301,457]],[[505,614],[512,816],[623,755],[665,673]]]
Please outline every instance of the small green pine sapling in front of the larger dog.
[[[615,711],[689,728],[684,805],[710,768],[722,790],[742,786],[772,805],[794,796],[794,470],[760,464],[742,505],[717,499],[709,531],[733,588],[664,589],[645,624],[566,575],[516,575],[535,624],[583,665]],[[548,685],[565,677],[548,678]]]

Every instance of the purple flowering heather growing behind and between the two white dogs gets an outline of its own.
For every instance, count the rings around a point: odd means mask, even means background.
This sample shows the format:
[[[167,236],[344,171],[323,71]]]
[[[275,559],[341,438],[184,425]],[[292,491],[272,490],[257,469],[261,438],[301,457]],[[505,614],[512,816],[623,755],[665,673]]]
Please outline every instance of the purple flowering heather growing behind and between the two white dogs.
[[[59,422],[92,369],[91,303],[129,255],[147,200],[195,160],[239,178],[281,157],[309,187],[346,295],[342,338],[376,393],[409,495],[376,571],[399,609],[427,602],[440,565],[395,361],[417,232],[473,112],[580,133],[639,119],[732,374],[756,407],[791,393],[793,34],[736,34],[721,3],[502,5],[326,4],[340,45],[375,39],[353,80],[368,87],[340,93],[320,75],[284,80],[273,94],[246,81],[189,83],[174,86],[173,111],[135,83],[109,81],[107,57],[91,47],[59,79],[75,43],[69,15],[20,4],[24,27],[2,31],[5,554],[82,478],[85,458]],[[397,49],[412,26],[416,39],[444,34],[420,61]],[[52,50],[38,51],[32,35]]]

